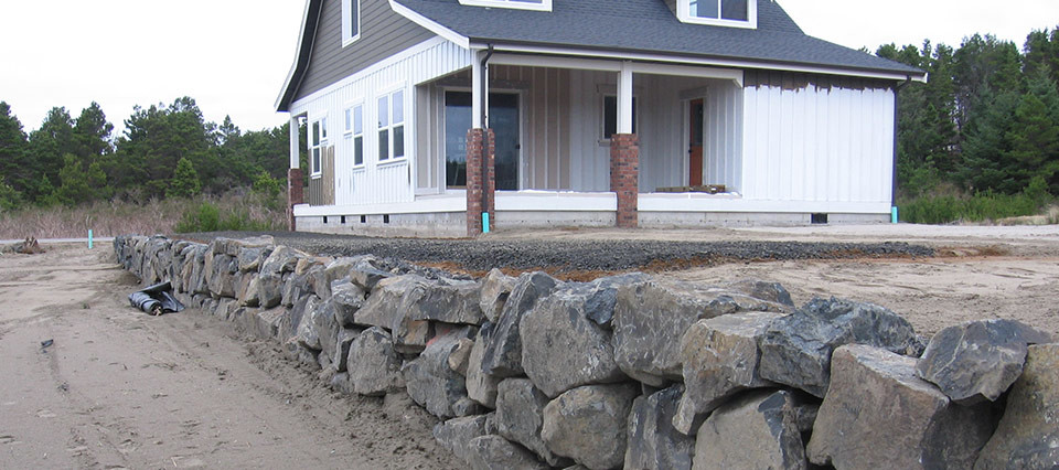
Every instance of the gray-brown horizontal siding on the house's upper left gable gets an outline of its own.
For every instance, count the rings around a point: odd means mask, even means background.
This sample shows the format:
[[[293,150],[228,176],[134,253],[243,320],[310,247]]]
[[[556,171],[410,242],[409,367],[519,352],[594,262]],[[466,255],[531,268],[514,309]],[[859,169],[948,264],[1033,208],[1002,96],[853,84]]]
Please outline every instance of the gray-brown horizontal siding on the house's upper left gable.
[[[309,66],[295,99],[312,95],[435,36],[425,28],[395,13],[387,0],[360,2],[361,38],[343,47],[342,0],[323,0]]]

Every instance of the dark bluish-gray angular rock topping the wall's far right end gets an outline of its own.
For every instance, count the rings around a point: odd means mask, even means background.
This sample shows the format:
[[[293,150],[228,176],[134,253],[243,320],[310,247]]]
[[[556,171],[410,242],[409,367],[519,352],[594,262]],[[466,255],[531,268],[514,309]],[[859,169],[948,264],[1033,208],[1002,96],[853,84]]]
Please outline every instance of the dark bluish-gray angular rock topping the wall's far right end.
[[[1050,334],[1018,321],[970,321],[934,334],[916,374],[962,405],[995,402],[1023,374],[1026,346],[1049,342]]]

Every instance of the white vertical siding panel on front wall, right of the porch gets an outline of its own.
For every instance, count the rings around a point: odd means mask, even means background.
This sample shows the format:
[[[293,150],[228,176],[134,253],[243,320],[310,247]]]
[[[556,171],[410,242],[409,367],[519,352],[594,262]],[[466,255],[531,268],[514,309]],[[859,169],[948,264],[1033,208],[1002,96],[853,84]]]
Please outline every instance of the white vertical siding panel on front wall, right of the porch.
[[[742,196],[889,203],[894,90],[878,81],[751,73],[744,88]]]

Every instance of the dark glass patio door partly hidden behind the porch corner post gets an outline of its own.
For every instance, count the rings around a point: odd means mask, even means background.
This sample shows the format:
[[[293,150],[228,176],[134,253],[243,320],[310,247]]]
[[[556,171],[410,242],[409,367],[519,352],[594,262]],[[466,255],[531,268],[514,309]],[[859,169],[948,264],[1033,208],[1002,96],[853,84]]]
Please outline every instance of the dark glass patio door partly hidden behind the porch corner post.
[[[496,151],[496,189],[518,189],[518,95],[489,94],[489,127]],[[445,181],[448,188],[467,186],[467,131],[471,128],[471,94],[445,93]]]

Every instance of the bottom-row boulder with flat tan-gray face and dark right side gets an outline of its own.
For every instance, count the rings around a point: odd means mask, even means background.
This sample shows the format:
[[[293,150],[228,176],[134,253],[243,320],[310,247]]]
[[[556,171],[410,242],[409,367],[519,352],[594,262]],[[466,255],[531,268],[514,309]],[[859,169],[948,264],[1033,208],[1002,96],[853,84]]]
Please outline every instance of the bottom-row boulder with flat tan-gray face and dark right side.
[[[794,396],[748,392],[714,410],[698,429],[696,470],[807,468]]]

